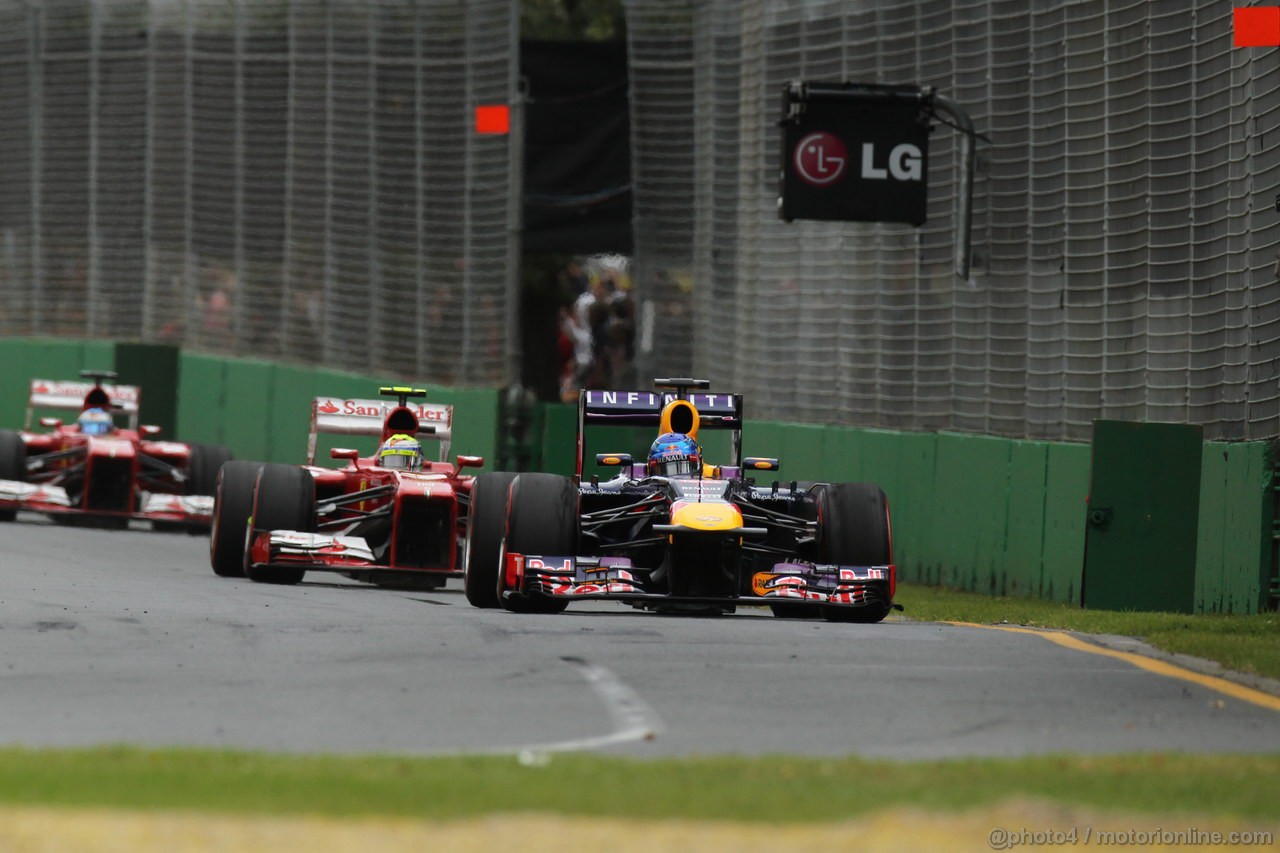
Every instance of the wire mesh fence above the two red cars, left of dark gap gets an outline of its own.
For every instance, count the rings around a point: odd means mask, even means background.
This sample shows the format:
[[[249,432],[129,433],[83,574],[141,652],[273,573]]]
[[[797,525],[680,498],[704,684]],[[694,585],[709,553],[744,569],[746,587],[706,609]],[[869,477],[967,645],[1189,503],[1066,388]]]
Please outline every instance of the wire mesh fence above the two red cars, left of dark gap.
[[[516,0],[0,4],[0,333],[498,384]]]

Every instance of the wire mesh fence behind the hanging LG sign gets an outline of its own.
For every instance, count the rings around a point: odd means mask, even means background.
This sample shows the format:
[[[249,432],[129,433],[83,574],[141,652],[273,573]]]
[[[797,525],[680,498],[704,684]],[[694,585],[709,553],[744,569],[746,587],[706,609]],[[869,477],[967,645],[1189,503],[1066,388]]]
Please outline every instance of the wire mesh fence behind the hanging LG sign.
[[[627,0],[643,373],[751,415],[1048,439],[1280,434],[1280,68],[1184,0]],[[927,85],[922,228],[777,216],[792,79]]]

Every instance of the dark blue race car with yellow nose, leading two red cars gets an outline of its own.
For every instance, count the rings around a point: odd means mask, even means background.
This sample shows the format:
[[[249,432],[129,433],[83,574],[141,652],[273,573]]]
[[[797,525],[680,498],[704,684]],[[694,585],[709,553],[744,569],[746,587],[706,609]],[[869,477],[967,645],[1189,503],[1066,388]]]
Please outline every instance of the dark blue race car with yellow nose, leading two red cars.
[[[575,476],[481,474],[471,494],[465,589],[476,607],[559,612],[608,599],[659,612],[877,622],[895,607],[888,502],[870,483],[759,483],[776,459],[741,455],[742,397],[699,379],[667,393],[588,391]],[[588,428],[655,426],[649,460],[584,479]],[[701,460],[699,430],[728,430],[732,465]]]

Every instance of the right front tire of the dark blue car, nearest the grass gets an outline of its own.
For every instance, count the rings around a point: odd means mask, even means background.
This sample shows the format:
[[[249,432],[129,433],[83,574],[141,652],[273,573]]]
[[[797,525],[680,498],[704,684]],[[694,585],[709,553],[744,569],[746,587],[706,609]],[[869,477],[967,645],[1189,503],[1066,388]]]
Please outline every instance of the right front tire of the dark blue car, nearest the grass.
[[[823,562],[849,566],[883,566],[893,560],[888,501],[874,483],[838,483],[818,494],[818,548]],[[888,616],[891,601],[865,607],[822,607],[832,622],[878,622]]]

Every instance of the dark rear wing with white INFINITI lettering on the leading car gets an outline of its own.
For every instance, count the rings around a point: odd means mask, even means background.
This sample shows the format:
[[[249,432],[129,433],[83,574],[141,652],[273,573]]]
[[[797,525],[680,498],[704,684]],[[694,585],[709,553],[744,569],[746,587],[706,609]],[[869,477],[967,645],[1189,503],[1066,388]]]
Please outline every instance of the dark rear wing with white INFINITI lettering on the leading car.
[[[676,380],[659,379],[659,384]],[[731,430],[733,460],[742,465],[742,394],[713,394],[689,392],[689,387],[707,387],[703,380],[686,383],[673,392],[663,391],[584,391],[577,398],[577,475],[582,476],[586,457],[586,426],[653,426],[655,433],[664,425],[663,412],[671,402],[686,400],[698,410],[701,429]],[[687,384],[698,382],[699,384]],[[677,429],[677,432],[696,432]]]

